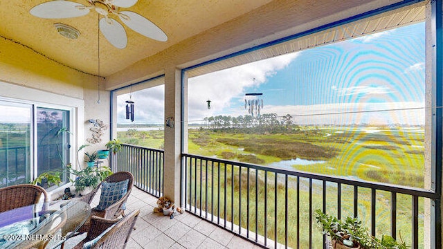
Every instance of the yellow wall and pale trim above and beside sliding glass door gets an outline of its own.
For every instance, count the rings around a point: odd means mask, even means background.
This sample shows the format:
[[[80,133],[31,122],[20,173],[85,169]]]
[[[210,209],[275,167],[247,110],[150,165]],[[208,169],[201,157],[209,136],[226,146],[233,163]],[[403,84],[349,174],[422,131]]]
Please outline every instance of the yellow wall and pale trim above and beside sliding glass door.
[[[78,146],[86,144],[91,136],[90,118],[109,124],[109,91],[100,91],[98,104],[97,82],[93,75],[63,66],[16,42],[0,39],[0,98],[73,109],[71,132]],[[104,148],[109,130],[103,138],[102,143],[87,150]]]

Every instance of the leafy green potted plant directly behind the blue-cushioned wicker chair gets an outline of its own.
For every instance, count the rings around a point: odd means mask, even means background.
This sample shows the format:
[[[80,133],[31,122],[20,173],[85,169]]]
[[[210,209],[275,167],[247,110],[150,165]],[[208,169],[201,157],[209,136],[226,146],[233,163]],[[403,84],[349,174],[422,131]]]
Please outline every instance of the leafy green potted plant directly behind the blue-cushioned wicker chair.
[[[68,169],[71,174],[77,176],[73,181],[75,192],[79,192],[82,195],[91,192],[91,190],[93,190],[98,183],[105,180],[107,176],[112,174],[111,169],[106,166],[86,167],[81,170],[76,170],[69,166]]]

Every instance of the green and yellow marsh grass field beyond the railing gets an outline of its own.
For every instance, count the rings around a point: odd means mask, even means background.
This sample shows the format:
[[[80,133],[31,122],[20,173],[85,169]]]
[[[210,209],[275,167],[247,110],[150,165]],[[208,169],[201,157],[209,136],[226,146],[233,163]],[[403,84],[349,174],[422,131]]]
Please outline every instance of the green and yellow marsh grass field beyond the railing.
[[[163,131],[139,131],[132,132],[131,136],[128,133],[119,133],[118,138],[122,142],[130,142],[132,144],[142,145],[146,147],[161,148],[163,146]],[[155,146],[154,146],[155,145]],[[245,133],[236,129],[190,129],[189,130],[189,144],[188,152],[190,154],[197,154],[201,156],[224,158],[228,160],[237,160],[244,163],[253,163],[257,165],[272,165],[282,161],[293,162],[291,160],[300,158],[303,160],[310,160],[310,164],[290,164],[289,167],[293,169],[302,170],[305,172],[314,172],[320,174],[329,174],[333,176],[343,176],[348,178],[359,178],[366,181],[375,181],[382,183],[392,183],[398,185],[407,185],[411,187],[424,187],[424,132],[423,129],[404,129],[404,128],[379,128],[379,127],[303,127],[298,131],[291,133]],[[316,163],[320,162],[320,163]],[[266,221],[266,234],[269,238],[275,237],[274,229],[274,214],[277,210],[277,238],[280,243],[284,242],[284,187],[282,183],[278,183],[277,190],[271,185],[266,185],[264,188],[264,175],[259,179],[257,193],[258,195],[250,195],[249,203],[255,203],[257,199],[259,206],[257,207],[257,216],[255,216],[255,205],[247,207],[247,193],[255,192],[255,180],[251,181],[249,188],[246,187],[246,172],[243,170],[242,175],[239,175],[238,167],[230,167],[226,165],[219,165],[221,173],[218,169],[212,167],[206,169],[206,165],[197,167],[195,176],[188,175],[189,181],[197,180],[199,184],[197,189],[197,196],[200,194],[200,184],[208,188],[202,187],[202,199],[197,199],[191,203],[197,207],[203,203],[212,203],[207,209],[213,214],[223,214],[221,218],[228,221],[233,221],[238,224],[240,221],[245,227],[249,222],[250,230],[257,231],[259,234],[264,234],[264,216],[270,217]],[[224,169],[226,167],[226,175]],[[199,178],[199,172],[208,173],[208,177]],[[232,171],[235,174],[232,174]],[[260,173],[259,173],[260,174]],[[266,176],[268,181],[273,182],[273,174],[268,173]],[[196,178],[197,175],[197,178]],[[234,177],[233,177],[234,176]],[[228,185],[218,187],[217,181],[226,178]],[[214,180],[215,179],[215,180]],[[218,180],[217,180],[218,179]],[[300,209],[300,230],[306,230],[309,225],[309,209],[307,204],[309,202],[309,186],[302,179],[300,184],[300,192],[298,198],[300,203],[294,203],[296,199],[296,190],[291,187],[296,185],[296,178],[289,178],[288,196],[291,200],[287,207],[288,209],[288,233],[289,246],[296,247],[296,208]],[[214,182],[213,182],[214,181]],[[241,184],[240,184],[241,182]],[[211,187],[212,185],[215,187]],[[312,207],[322,208],[323,189],[320,184],[313,185],[312,190]],[[242,189],[241,201],[239,197],[239,188]],[[327,187],[327,195],[330,196],[328,200],[334,199],[336,196],[336,185]],[[342,215],[352,215],[352,189],[342,187]],[[220,199],[220,203],[215,203],[212,200],[218,200],[217,194],[220,197],[226,193],[227,207],[234,205],[236,208],[233,211],[230,208],[226,209],[226,216],[224,216],[224,198]],[[230,194],[235,193],[234,199],[230,199]],[[267,205],[264,208],[264,193],[266,193]],[[275,194],[276,193],[276,194]],[[189,194],[189,193],[188,193]],[[213,194],[213,196],[211,196]],[[277,196],[277,205],[275,206],[275,195]],[[208,199],[206,199],[208,196]],[[359,190],[359,218],[363,220],[365,225],[370,224],[370,191]],[[377,235],[386,234],[390,231],[390,196],[388,193],[377,192]],[[239,213],[240,204],[242,212]],[[331,210],[334,214],[336,210],[337,201],[332,200],[327,203],[327,210]],[[347,204],[346,204],[347,203]],[[410,198],[408,196],[399,196],[397,200],[397,231],[401,232],[401,237],[409,243],[410,241]],[[221,206],[220,210],[218,204]],[[421,239],[420,247],[423,247],[423,200],[419,203],[419,237]],[[246,210],[249,209],[247,216]],[[206,210],[206,208],[204,208]],[[255,219],[257,217],[257,228],[255,228]],[[314,248],[320,248],[321,236],[320,230],[315,227],[313,232]],[[316,232],[315,232],[316,231]],[[398,232],[397,232],[398,233]],[[300,245],[307,245],[307,235],[300,234]],[[317,246],[318,245],[318,246]],[[304,248],[303,246],[301,248]]]

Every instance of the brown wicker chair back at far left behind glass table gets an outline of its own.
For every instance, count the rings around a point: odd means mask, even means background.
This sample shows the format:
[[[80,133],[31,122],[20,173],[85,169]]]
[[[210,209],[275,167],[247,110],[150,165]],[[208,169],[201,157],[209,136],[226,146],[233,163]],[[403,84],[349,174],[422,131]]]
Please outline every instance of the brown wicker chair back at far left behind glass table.
[[[48,194],[43,187],[32,184],[3,187],[0,189],[0,212],[39,203],[42,194],[47,202]]]

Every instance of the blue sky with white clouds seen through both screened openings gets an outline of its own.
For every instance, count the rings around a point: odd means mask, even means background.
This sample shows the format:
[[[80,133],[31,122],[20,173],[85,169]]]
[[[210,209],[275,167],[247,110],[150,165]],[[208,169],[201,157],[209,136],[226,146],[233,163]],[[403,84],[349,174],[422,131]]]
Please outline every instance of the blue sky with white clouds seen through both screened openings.
[[[298,124],[424,124],[424,29],[413,24],[192,77],[189,122],[248,115],[245,94],[262,93],[262,114],[290,114]],[[163,86],[132,93],[135,122],[163,124],[163,96]],[[120,123],[128,123],[126,98],[118,100]],[[392,109],[401,110],[383,111]]]

